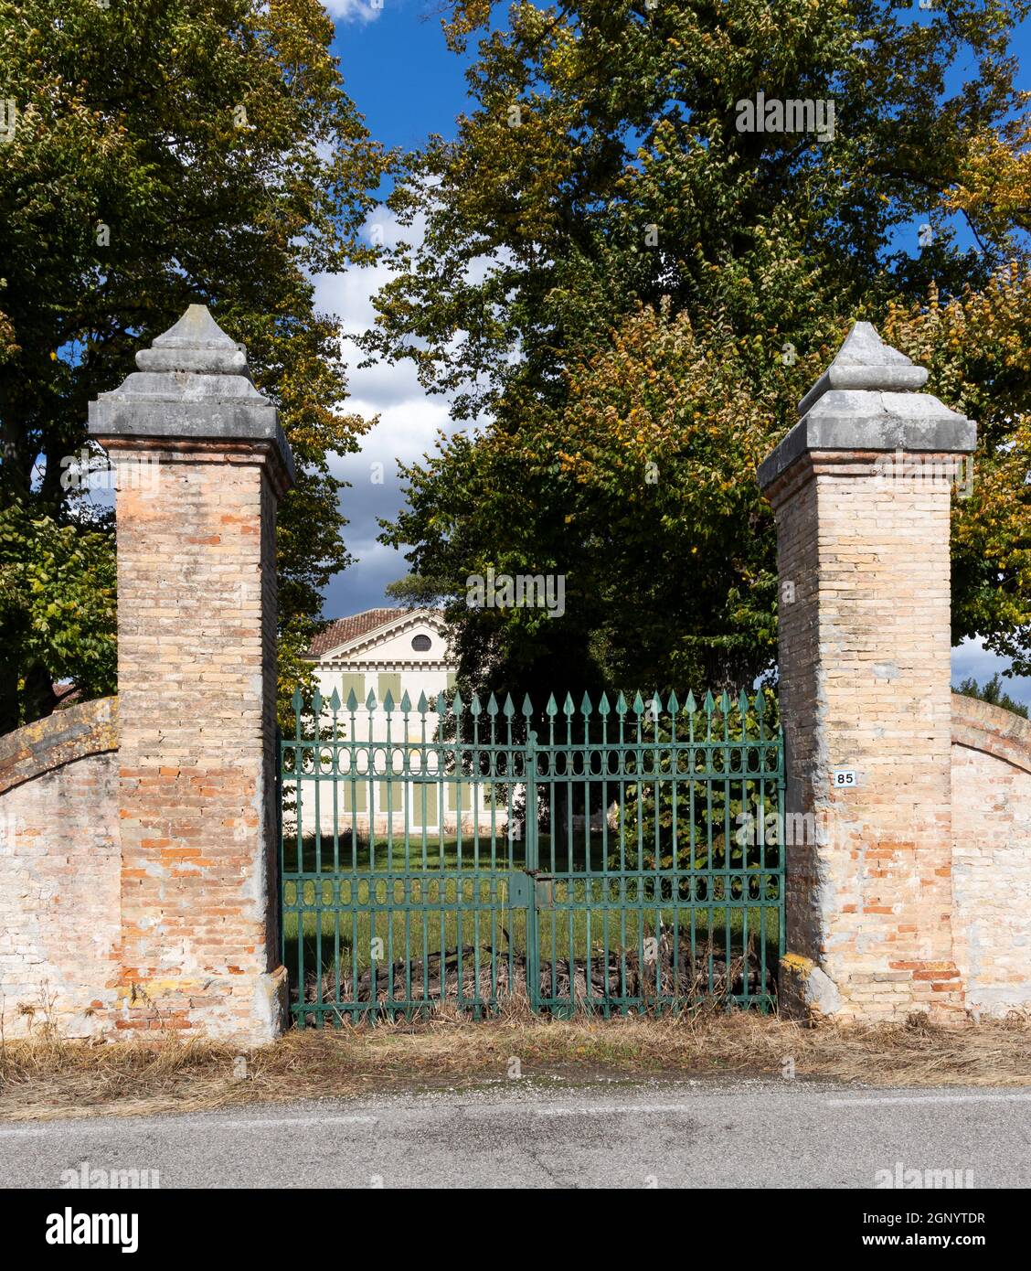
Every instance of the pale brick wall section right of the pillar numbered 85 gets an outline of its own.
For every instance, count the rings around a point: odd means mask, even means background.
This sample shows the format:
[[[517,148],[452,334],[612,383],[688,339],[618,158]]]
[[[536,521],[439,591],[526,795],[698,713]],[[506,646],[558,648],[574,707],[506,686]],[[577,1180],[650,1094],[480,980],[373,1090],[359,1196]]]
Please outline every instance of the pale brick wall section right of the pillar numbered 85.
[[[1031,723],[952,698],[952,932],[966,1004],[1031,1010]]]

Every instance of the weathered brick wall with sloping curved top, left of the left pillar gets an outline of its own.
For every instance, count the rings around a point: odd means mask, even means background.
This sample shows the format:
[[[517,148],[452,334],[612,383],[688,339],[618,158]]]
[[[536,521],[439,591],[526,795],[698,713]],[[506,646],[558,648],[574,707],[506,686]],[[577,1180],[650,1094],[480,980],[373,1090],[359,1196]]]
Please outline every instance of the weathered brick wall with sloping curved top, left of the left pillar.
[[[105,1024],[121,929],[117,704],[58,710],[0,737],[4,1035]]]

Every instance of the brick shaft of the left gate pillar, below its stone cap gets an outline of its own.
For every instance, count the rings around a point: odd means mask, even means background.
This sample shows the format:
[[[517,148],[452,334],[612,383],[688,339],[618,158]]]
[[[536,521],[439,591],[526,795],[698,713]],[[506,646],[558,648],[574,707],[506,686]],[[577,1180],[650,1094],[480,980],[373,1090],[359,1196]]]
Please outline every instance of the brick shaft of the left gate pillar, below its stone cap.
[[[114,449],[112,446],[112,449]],[[116,464],[127,451],[114,452]],[[119,1028],[273,1030],[274,496],[260,456],[149,446],[119,479]],[[264,533],[263,533],[264,526]],[[264,620],[263,620],[264,619]]]

